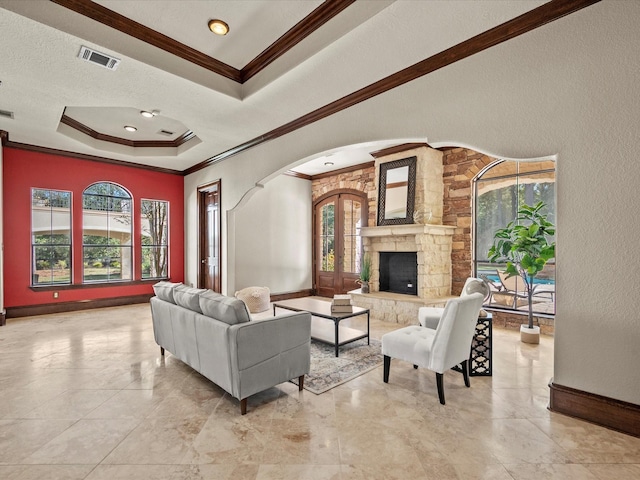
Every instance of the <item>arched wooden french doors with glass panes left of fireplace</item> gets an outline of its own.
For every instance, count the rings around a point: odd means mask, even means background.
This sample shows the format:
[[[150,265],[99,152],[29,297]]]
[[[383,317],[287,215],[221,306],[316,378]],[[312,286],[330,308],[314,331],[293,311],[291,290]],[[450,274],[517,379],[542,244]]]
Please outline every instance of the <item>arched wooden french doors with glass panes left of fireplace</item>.
[[[314,265],[317,295],[333,297],[360,288],[362,237],[367,225],[363,192],[334,192],[314,205]]]

